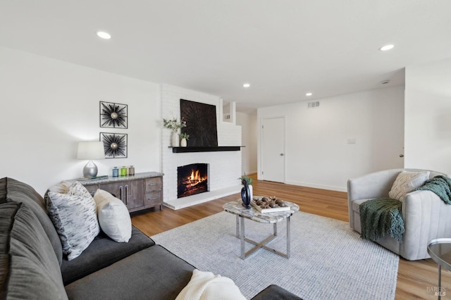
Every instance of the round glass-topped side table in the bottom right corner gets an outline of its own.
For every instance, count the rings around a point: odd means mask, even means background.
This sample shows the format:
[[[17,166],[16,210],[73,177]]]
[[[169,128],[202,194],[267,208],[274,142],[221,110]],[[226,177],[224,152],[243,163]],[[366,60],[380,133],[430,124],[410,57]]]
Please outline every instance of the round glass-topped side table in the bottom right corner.
[[[438,264],[438,291],[435,293],[440,299],[442,296],[442,267],[451,271],[451,239],[433,239],[428,244],[428,254]]]

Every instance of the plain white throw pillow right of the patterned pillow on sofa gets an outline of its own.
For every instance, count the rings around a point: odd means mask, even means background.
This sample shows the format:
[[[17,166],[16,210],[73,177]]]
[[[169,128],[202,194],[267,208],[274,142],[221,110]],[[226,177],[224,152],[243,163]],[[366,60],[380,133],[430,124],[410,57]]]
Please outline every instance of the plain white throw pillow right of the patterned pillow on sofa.
[[[113,241],[128,242],[132,237],[132,220],[123,201],[103,189],[97,189],[94,201],[101,230]]]

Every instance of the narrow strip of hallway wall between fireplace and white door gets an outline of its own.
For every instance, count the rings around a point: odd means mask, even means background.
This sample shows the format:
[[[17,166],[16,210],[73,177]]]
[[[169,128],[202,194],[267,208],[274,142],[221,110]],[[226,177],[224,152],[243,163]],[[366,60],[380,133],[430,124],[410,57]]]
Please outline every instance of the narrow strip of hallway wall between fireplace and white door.
[[[237,113],[237,125],[241,126],[241,173],[257,173],[257,114]]]

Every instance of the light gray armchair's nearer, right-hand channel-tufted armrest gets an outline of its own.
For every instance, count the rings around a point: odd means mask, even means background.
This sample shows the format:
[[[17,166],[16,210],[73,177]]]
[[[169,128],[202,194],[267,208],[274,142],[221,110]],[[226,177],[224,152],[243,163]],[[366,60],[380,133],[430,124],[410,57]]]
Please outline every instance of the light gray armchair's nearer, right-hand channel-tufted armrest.
[[[451,205],[430,191],[407,194],[402,201],[404,237],[400,254],[409,260],[430,256],[427,245],[431,239],[451,237]]]

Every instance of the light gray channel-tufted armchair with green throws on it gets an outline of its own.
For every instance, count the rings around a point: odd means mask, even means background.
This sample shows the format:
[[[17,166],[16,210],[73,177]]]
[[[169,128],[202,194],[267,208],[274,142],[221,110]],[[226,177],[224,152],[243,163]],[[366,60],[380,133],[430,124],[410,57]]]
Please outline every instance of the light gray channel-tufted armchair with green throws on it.
[[[359,206],[364,201],[378,197],[388,197],[388,192],[402,171],[419,172],[418,169],[393,169],[347,181],[347,199],[351,227],[361,232]],[[430,171],[430,178],[445,175]],[[427,246],[431,239],[451,237],[451,205],[445,204],[435,193],[430,191],[410,192],[402,201],[402,217],[405,232],[402,243],[393,237],[385,236],[377,243],[400,256],[415,261],[430,258]]]

